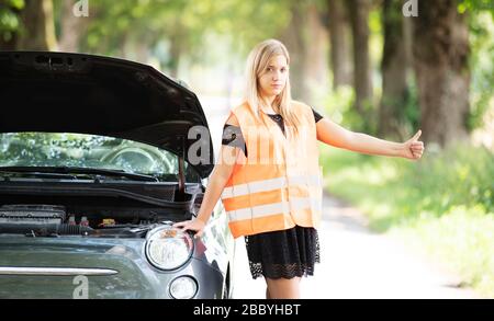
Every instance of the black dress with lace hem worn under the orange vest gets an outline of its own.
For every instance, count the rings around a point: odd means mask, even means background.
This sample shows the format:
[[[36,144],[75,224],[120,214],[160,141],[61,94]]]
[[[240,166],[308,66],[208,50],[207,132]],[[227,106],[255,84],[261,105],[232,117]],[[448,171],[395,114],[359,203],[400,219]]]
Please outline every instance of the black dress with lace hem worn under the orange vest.
[[[314,121],[323,118],[313,110]],[[270,115],[284,134],[283,118],[279,114]],[[247,156],[247,147],[240,127],[225,125],[223,145],[240,148]],[[245,237],[247,256],[252,278],[293,278],[314,275],[314,265],[319,262],[319,240],[317,230],[295,226],[294,228],[263,232]]]

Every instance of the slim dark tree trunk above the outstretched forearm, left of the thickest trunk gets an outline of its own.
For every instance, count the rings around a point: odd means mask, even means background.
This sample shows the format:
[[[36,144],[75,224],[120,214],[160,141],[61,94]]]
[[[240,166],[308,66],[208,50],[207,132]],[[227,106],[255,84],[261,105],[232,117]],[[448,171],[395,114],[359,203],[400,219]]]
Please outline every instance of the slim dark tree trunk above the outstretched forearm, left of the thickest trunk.
[[[406,130],[404,108],[408,96],[406,73],[407,33],[401,0],[384,0],[384,53],[382,58],[382,98],[379,111],[379,135],[404,139]]]

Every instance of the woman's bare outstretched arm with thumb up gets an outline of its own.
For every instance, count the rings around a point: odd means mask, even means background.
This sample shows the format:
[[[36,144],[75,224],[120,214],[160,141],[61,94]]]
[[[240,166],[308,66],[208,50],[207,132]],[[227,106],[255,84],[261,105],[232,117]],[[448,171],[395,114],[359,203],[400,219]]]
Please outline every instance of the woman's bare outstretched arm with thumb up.
[[[424,153],[424,142],[418,141],[418,130],[405,142],[393,142],[370,135],[350,131],[338,124],[323,118],[317,122],[317,139],[334,147],[368,154],[403,157],[417,160]]]

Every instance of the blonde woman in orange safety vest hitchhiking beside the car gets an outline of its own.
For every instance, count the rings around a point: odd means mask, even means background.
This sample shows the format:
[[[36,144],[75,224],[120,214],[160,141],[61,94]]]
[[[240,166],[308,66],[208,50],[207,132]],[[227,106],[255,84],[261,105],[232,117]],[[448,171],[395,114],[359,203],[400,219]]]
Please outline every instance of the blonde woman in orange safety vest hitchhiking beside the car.
[[[403,144],[349,131],[291,100],[290,56],[283,44],[258,44],[247,62],[245,103],[232,110],[195,219],[175,227],[201,237],[218,200],[232,234],[245,237],[250,272],[263,276],[267,298],[299,298],[302,276],[319,261],[322,211],[317,140],[348,150],[417,160],[420,130]]]

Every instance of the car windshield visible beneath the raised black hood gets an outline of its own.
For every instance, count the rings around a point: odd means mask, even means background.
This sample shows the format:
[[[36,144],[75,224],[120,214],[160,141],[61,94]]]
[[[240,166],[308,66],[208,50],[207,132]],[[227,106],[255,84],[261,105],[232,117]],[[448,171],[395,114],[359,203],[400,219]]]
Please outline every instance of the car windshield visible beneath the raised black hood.
[[[178,157],[146,144],[83,134],[0,134],[0,167],[75,167],[178,179]],[[199,175],[186,162],[186,177]]]

